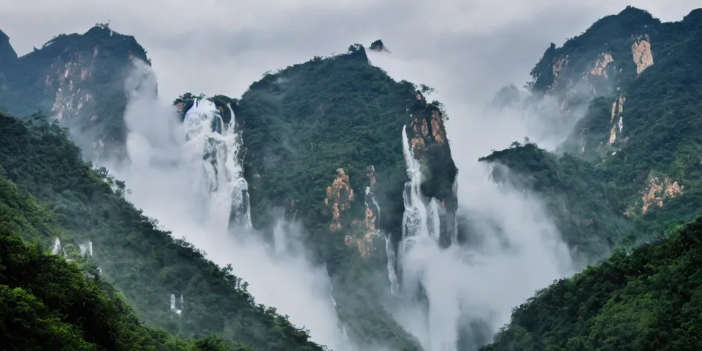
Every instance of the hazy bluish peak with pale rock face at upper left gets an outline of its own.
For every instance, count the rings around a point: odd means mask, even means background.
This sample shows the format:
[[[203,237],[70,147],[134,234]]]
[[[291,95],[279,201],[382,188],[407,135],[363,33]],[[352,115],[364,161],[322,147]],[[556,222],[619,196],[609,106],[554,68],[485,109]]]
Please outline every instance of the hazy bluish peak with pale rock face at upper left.
[[[133,58],[148,62],[133,37],[107,25],[60,34],[15,60],[12,69],[0,60],[8,86],[0,91],[1,107],[20,116],[37,110],[51,114],[81,135],[89,157],[119,150],[126,137],[124,73]]]

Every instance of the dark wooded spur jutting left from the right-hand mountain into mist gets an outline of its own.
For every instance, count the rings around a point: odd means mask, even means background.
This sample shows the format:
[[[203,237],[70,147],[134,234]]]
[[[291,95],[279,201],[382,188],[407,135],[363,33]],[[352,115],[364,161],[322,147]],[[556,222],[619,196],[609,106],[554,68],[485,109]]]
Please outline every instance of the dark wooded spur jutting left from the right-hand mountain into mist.
[[[539,194],[579,260],[604,258],[630,226],[621,216],[623,206],[602,181],[602,172],[578,157],[557,157],[534,143],[515,142],[479,161],[507,167],[493,168],[496,181]]]

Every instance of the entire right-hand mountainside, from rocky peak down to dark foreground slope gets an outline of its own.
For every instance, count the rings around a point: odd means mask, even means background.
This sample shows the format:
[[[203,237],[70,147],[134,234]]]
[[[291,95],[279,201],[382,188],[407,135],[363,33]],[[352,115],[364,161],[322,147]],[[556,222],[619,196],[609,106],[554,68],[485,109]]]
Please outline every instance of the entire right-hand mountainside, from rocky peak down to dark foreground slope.
[[[564,117],[571,98],[585,97],[585,113],[571,116],[557,154],[515,143],[481,160],[505,165],[519,175],[510,182],[547,199],[566,241],[588,247],[590,263],[614,253],[538,291],[484,350],[701,346],[693,337],[701,34],[701,9],[660,22],[628,7],[551,45],[534,67],[531,94],[559,99]]]

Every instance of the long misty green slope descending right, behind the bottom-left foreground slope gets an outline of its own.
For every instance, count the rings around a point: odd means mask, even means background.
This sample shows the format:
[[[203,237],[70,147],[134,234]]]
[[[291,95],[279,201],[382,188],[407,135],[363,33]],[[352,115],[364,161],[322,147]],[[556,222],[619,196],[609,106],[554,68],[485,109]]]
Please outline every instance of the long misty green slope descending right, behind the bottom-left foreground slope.
[[[73,239],[93,242],[102,277],[124,292],[140,319],[183,336],[219,333],[256,350],[322,350],[274,309],[254,303],[231,267],[157,230],[124,199],[124,183],[93,171],[57,124],[0,114],[0,134],[6,177],[46,204]],[[180,326],[168,312],[171,293],[187,300]]]

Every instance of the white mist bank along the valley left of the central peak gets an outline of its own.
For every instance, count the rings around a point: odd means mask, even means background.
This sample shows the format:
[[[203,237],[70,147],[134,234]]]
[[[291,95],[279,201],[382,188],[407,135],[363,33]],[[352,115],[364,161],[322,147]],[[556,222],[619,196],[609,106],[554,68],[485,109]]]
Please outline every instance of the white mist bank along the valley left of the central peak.
[[[220,164],[213,184],[204,170],[207,165],[203,152],[214,148],[230,156],[236,152],[231,147],[238,145],[236,140],[225,138],[236,135],[208,135],[209,130],[201,128],[209,129],[209,122],[200,123],[190,117],[181,123],[174,107],[158,100],[151,68],[140,61],[134,63],[125,82],[129,160],[102,161],[99,166],[106,166],[115,178],[125,181],[127,199],[145,215],[157,218],[161,229],[171,231],[173,237],[185,238],[214,263],[231,264],[232,273],[249,284],[247,289],[256,303],[289,315],[294,325],[310,330],[314,342],[333,350],[350,350],[331,297],[329,274],[326,268],[310,263],[299,239],[304,229],[300,223],[278,218],[272,243],[261,239],[263,235],[250,225],[230,228],[233,202],[248,202],[247,198],[234,196],[230,188],[236,190],[242,181],[245,187],[248,185],[236,174],[223,179],[225,171],[236,173],[237,164]],[[213,142],[213,138],[223,140]],[[230,149],[222,149],[220,143]],[[187,296],[184,298],[187,300]]]

